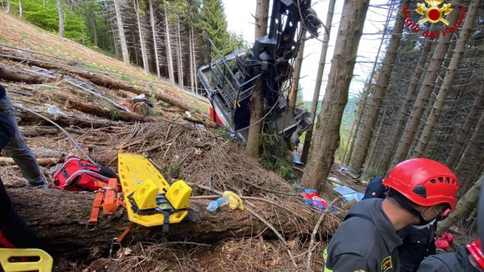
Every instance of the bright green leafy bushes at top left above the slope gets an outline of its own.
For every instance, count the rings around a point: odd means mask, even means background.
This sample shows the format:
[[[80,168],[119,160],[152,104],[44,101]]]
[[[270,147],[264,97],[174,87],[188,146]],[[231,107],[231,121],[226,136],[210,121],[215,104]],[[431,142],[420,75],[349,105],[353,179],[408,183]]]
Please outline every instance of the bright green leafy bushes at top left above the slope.
[[[43,6],[45,3],[45,6]],[[22,0],[22,14],[28,21],[46,30],[57,32],[59,30],[59,17],[57,15],[57,2],[55,0]],[[10,1],[10,10],[19,12],[18,1]],[[90,43],[91,38],[86,36],[86,23],[75,12],[64,7],[65,35],[74,41]]]

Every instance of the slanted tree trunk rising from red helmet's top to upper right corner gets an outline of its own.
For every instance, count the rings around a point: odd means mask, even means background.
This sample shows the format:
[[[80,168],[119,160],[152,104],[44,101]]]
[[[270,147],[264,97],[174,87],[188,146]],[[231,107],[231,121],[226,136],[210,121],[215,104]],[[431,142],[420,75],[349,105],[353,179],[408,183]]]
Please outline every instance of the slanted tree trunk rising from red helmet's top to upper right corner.
[[[437,123],[438,117],[440,117],[440,112],[442,111],[445,100],[447,99],[447,94],[454,83],[454,77],[456,76],[457,69],[460,66],[460,59],[462,59],[464,55],[465,43],[467,43],[472,26],[474,25],[474,19],[476,19],[476,13],[480,1],[481,0],[473,0],[469,6],[469,12],[465,17],[464,26],[462,30],[460,30],[460,37],[457,41],[456,48],[454,49],[454,54],[450,60],[444,80],[440,86],[440,90],[438,91],[437,98],[434,101],[434,106],[432,106],[430,115],[425,123],[425,128],[422,132],[422,135],[420,135],[420,139],[418,140],[417,147],[415,150],[413,150],[412,157],[422,156],[425,148],[427,147],[427,143],[434,132],[434,126]]]

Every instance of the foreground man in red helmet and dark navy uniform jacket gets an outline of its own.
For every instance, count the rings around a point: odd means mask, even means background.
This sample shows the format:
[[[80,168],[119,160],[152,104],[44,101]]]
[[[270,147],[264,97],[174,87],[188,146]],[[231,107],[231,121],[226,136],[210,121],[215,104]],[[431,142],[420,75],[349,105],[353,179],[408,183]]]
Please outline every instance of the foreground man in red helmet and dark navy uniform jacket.
[[[400,271],[397,231],[456,208],[457,178],[431,159],[401,162],[382,184],[389,187],[384,200],[363,200],[348,211],[324,251],[324,271]]]

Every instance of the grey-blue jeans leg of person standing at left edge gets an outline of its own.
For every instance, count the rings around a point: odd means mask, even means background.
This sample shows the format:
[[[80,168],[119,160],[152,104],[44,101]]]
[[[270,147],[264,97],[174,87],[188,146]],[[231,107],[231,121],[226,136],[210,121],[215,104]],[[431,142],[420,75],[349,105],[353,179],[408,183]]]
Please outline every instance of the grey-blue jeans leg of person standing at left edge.
[[[22,175],[27,179],[27,186],[34,187],[44,184],[45,180],[40,174],[37,159],[20,133],[17,119],[15,118],[15,110],[13,109],[12,101],[8,96],[0,99],[0,110],[8,116],[15,128],[15,135],[10,137],[8,144],[3,147],[3,150],[5,150],[7,155],[12,157],[17,166],[19,166]]]

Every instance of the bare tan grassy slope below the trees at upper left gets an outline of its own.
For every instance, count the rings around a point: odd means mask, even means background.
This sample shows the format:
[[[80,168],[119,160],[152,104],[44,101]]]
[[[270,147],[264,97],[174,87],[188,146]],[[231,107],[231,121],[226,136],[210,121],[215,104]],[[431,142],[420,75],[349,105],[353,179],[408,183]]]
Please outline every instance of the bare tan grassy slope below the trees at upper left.
[[[30,59],[52,60],[93,72],[106,72],[115,80],[136,84],[150,92],[156,90],[166,93],[205,112],[208,109],[205,102],[195,99],[192,95],[186,95],[178,90],[177,86],[171,86],[165,79],[158,80],[153,75],[146,75],[140,67],[124,64],[79,43],[50,34],[11,14],[0,12],[0,21],[2,22],[0,24],[2,48],[8,49],[3,46],[11,46],[28,50],[30,52],[24,53]],[[56,57],[59,59],[55,59]]]

